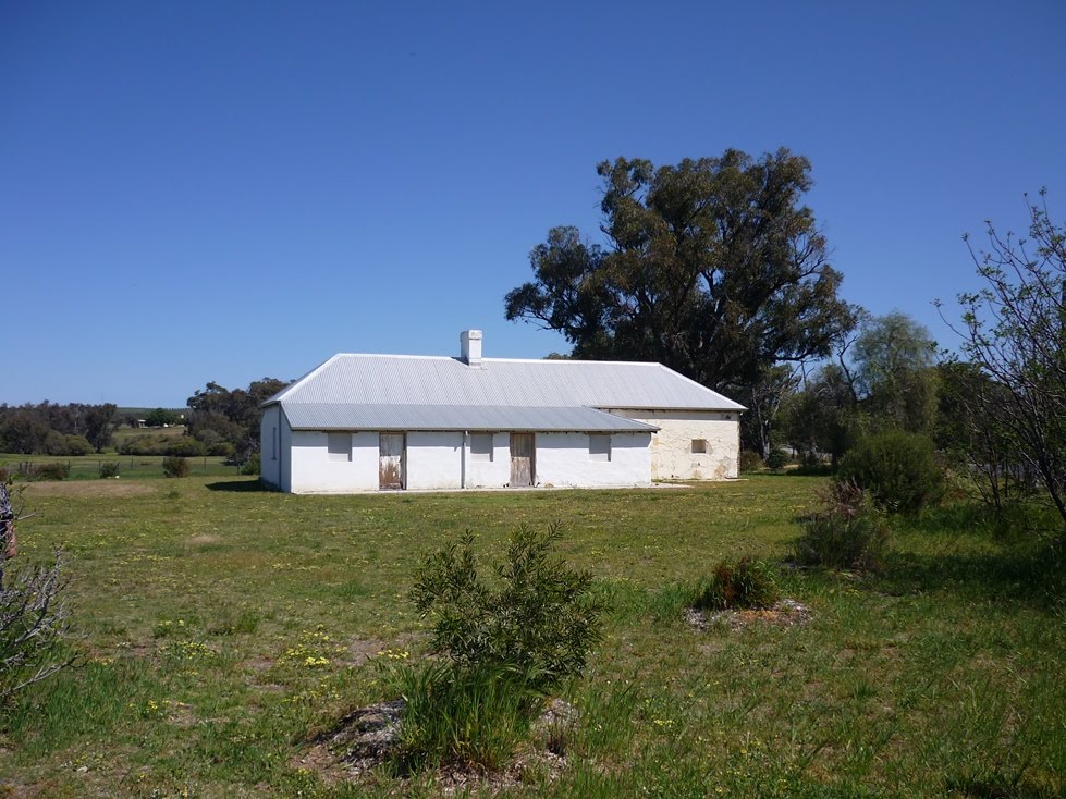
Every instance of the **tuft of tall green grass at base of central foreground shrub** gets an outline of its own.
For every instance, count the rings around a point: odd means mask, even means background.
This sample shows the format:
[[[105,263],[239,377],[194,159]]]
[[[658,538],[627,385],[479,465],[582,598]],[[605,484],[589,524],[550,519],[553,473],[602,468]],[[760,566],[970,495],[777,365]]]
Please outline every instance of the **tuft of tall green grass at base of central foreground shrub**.
[[[391,679],[406,700],[391,761],[402,774],[455,764],[498,771],[529,736],[543,703],[520,675],[498,665],[424,663]]]

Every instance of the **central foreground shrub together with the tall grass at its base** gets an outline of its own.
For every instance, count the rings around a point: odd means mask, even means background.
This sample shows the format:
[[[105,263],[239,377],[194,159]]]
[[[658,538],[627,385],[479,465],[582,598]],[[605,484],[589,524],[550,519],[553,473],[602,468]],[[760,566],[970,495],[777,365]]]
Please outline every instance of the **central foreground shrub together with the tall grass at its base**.
[[[406,700],[393,766],[499,770],[529,737],[549,691],[585,667],[603,607],[591,576],[554,554],[559,530],[519,527],[491,585],[470,532],[422,563],[411,597],[436,616],[442,659],[387,672]]]

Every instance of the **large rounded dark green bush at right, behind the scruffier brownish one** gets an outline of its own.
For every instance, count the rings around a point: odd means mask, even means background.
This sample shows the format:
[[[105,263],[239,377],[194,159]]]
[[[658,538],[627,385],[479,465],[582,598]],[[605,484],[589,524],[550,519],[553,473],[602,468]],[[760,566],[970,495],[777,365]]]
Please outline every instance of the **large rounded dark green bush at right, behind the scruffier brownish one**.
[[[868,491],[890,513],[916,513],[939,501],[944,483],[932,441],[902,430],[861,437],[845,455],[838,480]]]

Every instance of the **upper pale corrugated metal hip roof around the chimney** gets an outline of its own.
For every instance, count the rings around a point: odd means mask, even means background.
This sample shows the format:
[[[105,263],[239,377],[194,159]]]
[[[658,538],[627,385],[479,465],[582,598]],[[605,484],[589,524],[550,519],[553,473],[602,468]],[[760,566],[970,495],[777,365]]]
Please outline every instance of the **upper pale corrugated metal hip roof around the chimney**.
[[[474,368],[458,358],[348,354],[334,355],[266,404],[274,402],[286,410],[293,403],[379,411],[391,406],[744,409],[660,364],[485,358]]]

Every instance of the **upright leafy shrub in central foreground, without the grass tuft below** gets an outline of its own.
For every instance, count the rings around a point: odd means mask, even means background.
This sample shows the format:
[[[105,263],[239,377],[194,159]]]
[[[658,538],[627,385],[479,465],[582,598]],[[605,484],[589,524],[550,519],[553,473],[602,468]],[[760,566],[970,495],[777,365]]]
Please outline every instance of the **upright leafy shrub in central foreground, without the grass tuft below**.
[[[554,555],[560,524],[543,533],[519,527],[498,586],[478,574],[474,536],[431,555],[416,574],[411,597],[421,614],[437,617],[433,648],[464,667],[499,666],[549,691],[579,674],[600,637],[602,605],[588,571]]]

